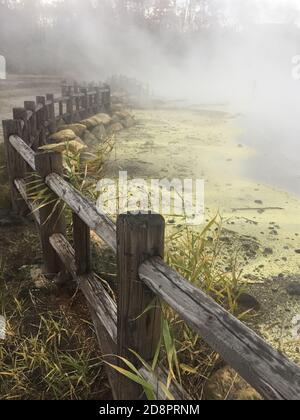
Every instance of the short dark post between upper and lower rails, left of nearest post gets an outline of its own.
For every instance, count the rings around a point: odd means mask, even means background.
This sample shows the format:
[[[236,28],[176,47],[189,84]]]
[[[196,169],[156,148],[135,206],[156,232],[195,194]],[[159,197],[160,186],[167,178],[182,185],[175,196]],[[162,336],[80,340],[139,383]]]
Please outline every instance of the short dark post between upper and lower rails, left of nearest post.
[[[90,228],[73,213],[73,241],[77,274],[87,274],[91,271],[91,236]]]

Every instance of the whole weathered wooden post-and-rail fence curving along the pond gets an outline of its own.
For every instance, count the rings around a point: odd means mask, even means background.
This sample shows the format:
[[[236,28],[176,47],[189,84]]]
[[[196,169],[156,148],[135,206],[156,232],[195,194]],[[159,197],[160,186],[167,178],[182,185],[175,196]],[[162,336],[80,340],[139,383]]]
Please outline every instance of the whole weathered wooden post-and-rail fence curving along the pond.
[[[123,356],[136,365],[129,351],[133,349],[144,360],[152,360],[161,334],[159,302],[164,301],[265,399],[300,399],[300,368],[165,264],[163,217],[122,214],[115,225],[64,178],[61,154],[37,151],[47,130],[53,130],[59,118],[71,122],[109,108],[107,86],[88,90],[64,85],[61,98],[47,95],[37,98],[36,103],[26,102],[24,108],[14,110],[13,120],[3,122],[13,206],[20,213],[27,207],[35,215],[46,273],[67,270],[77,281],[105,355]],[[26,192],[25,175],[29,170],[38,173],[71,208],[73,247],[66,239],[61,208],[49,204],[34,209]],[[117,303],[91,272],[91,230],[117,254]],[[118,363],[113,356],[108,360]],[[142,366],[139,369],[157,389],[157,398],[165,399],[158,386],[158,381],[165,380],[163,369],[155,373]],[[107,373],[115,399],[143,398],[139,385],[111,368]],[[176,384],[171,392],[177,399],[188,398]]]

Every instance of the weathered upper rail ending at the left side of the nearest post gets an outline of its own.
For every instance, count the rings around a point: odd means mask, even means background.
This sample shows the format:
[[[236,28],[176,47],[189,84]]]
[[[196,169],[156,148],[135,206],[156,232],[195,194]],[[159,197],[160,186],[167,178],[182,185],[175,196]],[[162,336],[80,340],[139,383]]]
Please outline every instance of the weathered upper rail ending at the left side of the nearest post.
[[[46,184],[114,251],[117,249],[116,227],[89,199],[57,174],[45,179]]]

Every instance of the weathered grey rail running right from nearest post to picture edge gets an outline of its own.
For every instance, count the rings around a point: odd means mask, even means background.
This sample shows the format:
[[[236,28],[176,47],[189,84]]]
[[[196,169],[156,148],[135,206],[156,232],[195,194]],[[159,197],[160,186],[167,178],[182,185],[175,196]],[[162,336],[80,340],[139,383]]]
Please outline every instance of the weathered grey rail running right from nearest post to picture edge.
[[[300,368],[190,284],[160,258],[139,269],[142,281],[167,302],[264,398],[300,399]]]

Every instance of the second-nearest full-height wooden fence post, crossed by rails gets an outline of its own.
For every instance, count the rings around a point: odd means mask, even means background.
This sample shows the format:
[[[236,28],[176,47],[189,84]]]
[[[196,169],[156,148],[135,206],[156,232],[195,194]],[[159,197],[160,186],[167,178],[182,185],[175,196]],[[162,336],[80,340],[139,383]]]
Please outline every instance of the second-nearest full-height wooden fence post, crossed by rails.
[[[62,174],[63,163],[61,153],[42,152],[35,155],[35,166],[37,173],[46,178],[51,173]],[[51,199],[50,201],[53,201]],[[45,274],[53,276],[64,270],[60,259],[52,248],[49,238],[54,233],[66,234],[65,220],[63,215],[63,204],[51,202],[39,210],[40,213],[40,238],[45,264]]]

